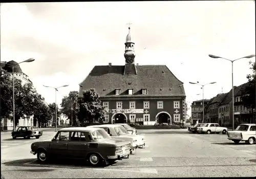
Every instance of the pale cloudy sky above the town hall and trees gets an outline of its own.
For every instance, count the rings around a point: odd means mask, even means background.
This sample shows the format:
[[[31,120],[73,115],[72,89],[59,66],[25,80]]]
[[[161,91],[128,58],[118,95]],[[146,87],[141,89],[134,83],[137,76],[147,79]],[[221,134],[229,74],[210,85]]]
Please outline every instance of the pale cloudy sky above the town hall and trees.
[[[131,25],[135,63],[165,64],[191,104],[230,91],[230,60],[255,54],[254,1],[1,3],[1,61],[20,68],[47,103],[78,91],[95,65],[124,65]],[[251,59],[233,63],[233,84],[247,82]],[[197,95],[200,94],[200,95]],[[189,105],[190,105],[189,104]],[[188,115],[190,115],[190,110]]]

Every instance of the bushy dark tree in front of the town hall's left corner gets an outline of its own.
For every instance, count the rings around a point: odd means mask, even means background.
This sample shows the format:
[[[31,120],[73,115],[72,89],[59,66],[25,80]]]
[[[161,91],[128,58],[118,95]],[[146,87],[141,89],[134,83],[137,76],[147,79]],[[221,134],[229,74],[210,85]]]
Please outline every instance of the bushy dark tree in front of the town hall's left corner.
[[[81,124],[86,121],[102,123],[104,120],[104,108],[94,88],[82,92],[82,97],[78,98],[78,106],[77,118]]]

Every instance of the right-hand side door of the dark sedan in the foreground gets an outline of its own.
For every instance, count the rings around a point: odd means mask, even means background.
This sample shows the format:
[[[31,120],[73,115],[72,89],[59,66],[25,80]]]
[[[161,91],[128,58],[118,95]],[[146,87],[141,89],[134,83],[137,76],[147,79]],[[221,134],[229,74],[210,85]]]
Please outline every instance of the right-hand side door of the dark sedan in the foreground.
[[[88,132],[73,131],[68,145],[72,158],[83,159],[89,151]]]

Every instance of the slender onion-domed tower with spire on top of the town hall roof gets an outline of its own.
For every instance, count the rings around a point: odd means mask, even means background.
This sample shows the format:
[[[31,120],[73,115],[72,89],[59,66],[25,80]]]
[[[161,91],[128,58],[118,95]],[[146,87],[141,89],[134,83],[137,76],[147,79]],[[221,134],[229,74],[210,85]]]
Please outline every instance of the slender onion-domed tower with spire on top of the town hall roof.
[[[135,58],[135,52],[134,52],[134,42],[132,42],[132,37],[130,34],[130,23],[129,23],[129,33],[126,36],[125,40],[125,51],[124,51],[124,58],[125,58],[125,63],[127,64],[132,64],[134,63],[134,58]]]

